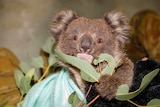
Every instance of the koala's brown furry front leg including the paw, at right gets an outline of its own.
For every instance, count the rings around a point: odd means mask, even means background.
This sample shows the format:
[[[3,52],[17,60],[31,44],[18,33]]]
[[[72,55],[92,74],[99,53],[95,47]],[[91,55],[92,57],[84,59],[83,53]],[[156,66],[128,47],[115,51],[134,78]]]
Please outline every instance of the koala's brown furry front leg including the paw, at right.
[[[131,86],[134,75],[133,66],[133,63],[128,58],[124,58],[112,76],[103,75],[99,83],[95,84],[99,95],[107,100],[111,100],[115,97],[118,86],[122,84]]]

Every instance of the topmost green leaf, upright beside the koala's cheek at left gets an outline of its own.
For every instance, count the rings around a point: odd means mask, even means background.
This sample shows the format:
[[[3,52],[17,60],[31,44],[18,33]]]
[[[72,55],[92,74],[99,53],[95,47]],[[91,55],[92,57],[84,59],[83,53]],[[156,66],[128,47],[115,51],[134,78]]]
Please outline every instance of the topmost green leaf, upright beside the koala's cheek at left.
[[[52,39],[52,37],[49,37],[45,44],[42,46],[42,50],[44,52],[47,52],[48,54],[51,54],[53,51],[53,47],[54,47],[55,41]]]

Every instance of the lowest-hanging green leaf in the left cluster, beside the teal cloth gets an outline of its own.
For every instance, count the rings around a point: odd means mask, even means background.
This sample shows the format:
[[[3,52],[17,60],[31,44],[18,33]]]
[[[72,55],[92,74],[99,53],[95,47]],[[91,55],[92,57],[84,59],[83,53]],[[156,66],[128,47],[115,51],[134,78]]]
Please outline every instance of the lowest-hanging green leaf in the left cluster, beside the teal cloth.
[[[31,88],[30,78],[23,77],[20,82],[20,92],[22,96],[25,95],[29,91],[30,88]]]

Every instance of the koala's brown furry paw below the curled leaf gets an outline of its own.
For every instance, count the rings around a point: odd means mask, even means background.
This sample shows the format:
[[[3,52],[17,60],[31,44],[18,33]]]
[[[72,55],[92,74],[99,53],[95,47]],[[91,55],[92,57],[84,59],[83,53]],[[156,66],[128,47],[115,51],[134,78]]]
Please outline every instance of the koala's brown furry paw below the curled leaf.
[[[99,95],[106,100],[111,100],[115,97],[118,86],[118,80],[111,76],[102,76],[99,83],[95,84]]]

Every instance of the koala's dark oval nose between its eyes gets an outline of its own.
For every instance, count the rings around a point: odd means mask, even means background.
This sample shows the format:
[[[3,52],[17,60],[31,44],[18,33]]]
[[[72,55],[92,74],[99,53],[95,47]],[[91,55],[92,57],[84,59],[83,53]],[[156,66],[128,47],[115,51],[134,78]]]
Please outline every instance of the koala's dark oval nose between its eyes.
[[[80,50],[83,52],[91,51],[92,38],[89,36],[85,36],[82,38],[80,43]]]

